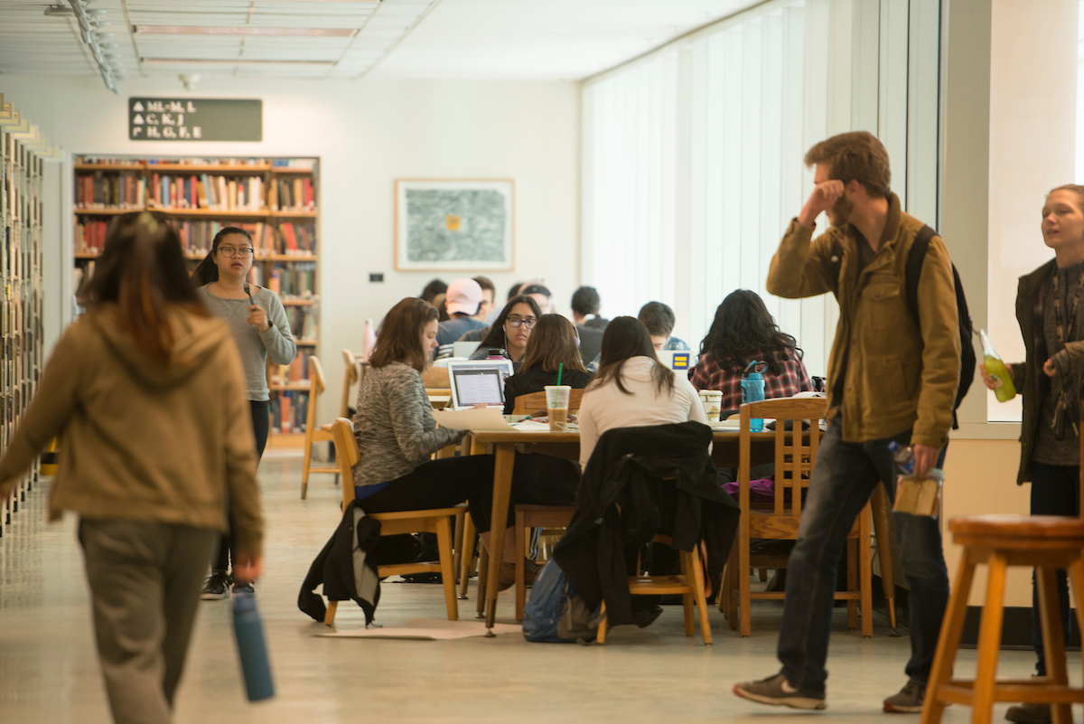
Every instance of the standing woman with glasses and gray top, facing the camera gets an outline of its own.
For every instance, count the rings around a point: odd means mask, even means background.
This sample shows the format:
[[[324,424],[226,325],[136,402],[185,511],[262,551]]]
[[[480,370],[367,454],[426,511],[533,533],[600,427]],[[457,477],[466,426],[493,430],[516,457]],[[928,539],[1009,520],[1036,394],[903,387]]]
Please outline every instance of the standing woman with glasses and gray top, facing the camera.
[[[289,331],[289,320],[282,300],[270,289],[248,283],[253,268],[253,237],[244,229],[225,227],[211,242],[210,254],[199,262],[192,283],[196,296],[215,316],[225,320],[241,352],[248,386],[256,454],[263,455],[271,422],[271,393],[268,390],[268,358],[275,364],[289,364],[297,355],[297,342]],[[204,600],[230,597],[230,554],[236,565],[233,530],[222,536],[211,574],[204,583]],[[250,591],[251,583],[234,584],[234,592]]]

